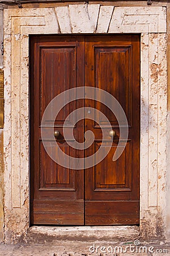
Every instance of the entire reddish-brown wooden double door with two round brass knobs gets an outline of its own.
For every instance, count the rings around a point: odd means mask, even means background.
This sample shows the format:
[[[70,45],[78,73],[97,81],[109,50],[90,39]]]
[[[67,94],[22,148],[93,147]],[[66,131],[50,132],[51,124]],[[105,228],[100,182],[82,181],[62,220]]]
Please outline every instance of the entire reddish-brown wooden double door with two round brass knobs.
[[[140,48],[138,35],[32,36],[30,68],[31,223],[52,225],[139,224]],[[85,158],[99,150],[100,123],[82,119],[74,126],[76,141],[91,130],[94,143],[85,150],[72,148],[63,137],[67,115],[78,108],[100,110],[116,132],[108,155],[87,169],[62,167],[46,153],[41,119],[46,106],[67,89],[92,86],[112,94],[128,119],[125,150],[112,161],[120,128],[114,114],[101,102],[75,100],[57,115],[56,142],[65,154]],[[46,125],[50,126],[50,117]],[[67,127],[71,126],[71,119]],[[54,154],[57,149],[53,148]],[[64,160],[64,159],[63,159]]]

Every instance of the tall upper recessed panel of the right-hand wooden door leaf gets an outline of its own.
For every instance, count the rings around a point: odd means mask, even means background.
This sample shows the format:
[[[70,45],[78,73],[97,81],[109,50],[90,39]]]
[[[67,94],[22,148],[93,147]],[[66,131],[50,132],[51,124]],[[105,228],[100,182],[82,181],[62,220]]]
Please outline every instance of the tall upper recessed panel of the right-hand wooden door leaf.
[[[121,43],[121,42],[120,42]],[[125,111],[131,125],[131,45],[93,46],[94,51],[94,86],[111,93]],[[120,44],[120,45],[119,45]],[[95,102],[95,108],[107,116],[111,125],[118,126],[114,114],[100,102]],[[120,120],[121,121],[121,120]],[[99,120],[99,124],[105,125]]]

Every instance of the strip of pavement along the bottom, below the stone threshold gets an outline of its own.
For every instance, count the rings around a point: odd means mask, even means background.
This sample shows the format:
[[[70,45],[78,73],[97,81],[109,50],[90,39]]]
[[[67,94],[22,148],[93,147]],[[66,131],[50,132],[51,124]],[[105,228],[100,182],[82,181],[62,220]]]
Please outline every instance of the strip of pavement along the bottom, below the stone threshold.
[[[156,243],[141,243],[140,246],[145,246],[139,252],[139,247],[137,250],[138,252],[132,253],[128,250],[125,252],[126,245],[122,243],[107,243],[107,242],[99,242],[95,243],[95,247],[99,246],[96,252],[96,248],[94,252],[90,252],[90,246],[93,246],[94,242],[75,242],[75,241],[55,241],[55,245],[52,243],[46,243],[42,245],[35,245],[35,244],[16,244],[16,245],[5,245],[1,243],[0,245],[0,255],[1,256],[170,256],[170,244],[157,241]],[[101,247],[104,246],[104,247]],[[114,248],[116,246],[122,247],[121,251],[114,253]],[[131,246],[133,244],[131,243]],[[149,247],[154,247],[153,252],[148,251]],[[113,248],[113,253],[101,251],[109,250],[111,251]],[[118,248],[116,248],[118,250]],[[133,250],[133,249],[131,249]],[[145,252],[144,252],[144,251]],[[92,247],[91,247],[91,251]]]

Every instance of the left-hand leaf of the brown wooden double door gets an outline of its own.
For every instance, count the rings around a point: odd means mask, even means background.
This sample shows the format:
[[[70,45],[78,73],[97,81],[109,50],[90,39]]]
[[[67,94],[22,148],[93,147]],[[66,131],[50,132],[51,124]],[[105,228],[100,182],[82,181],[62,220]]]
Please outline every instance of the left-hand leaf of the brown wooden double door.
[[[84,86],[84,37],[32,37],[31,56],[31,222],[83,225],[84,170],[69,170],[50,158],[41,141],[40,125],[46,106],[55,96]],[[61,134],[57,138],[59,148],[73,158],[83,158],[84,152],[70,149],[62,127],[67,115],[83,107],[83,102],[70,102],[54,122],[54,130]],[[52,120],[49,118],[46,123],[48,129]],[[70,120],[67,127],[72,126]],[[74,129],[76,140],[82,142],[84,121],[79,121]]]

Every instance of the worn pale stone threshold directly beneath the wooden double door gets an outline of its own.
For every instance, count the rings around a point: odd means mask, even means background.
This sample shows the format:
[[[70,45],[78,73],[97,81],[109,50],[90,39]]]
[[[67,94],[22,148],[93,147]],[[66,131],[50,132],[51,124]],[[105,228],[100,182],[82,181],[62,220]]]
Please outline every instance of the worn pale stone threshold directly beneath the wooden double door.
[[[139,238],[139,226],[31,226],[27,241],[128,241]]]

